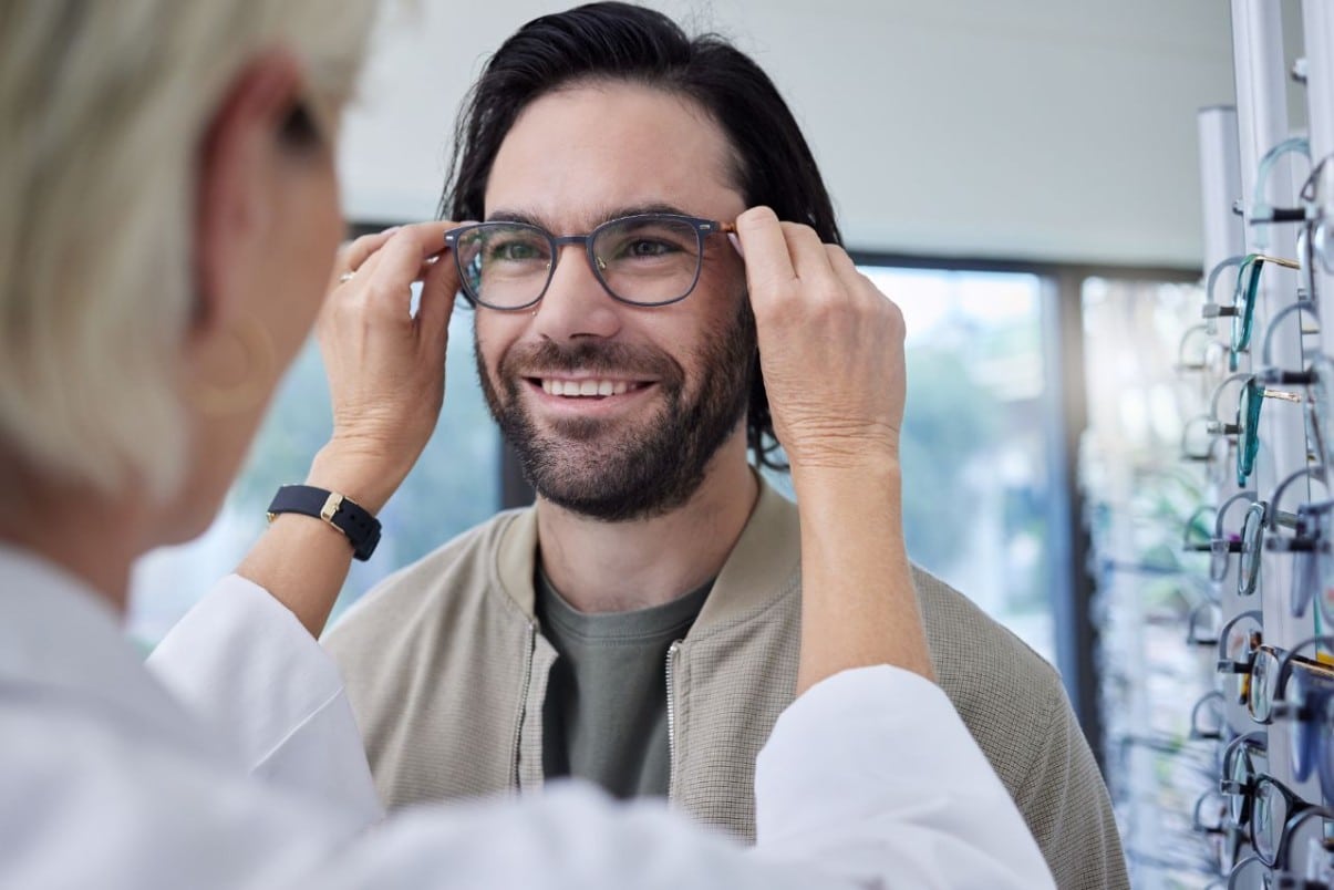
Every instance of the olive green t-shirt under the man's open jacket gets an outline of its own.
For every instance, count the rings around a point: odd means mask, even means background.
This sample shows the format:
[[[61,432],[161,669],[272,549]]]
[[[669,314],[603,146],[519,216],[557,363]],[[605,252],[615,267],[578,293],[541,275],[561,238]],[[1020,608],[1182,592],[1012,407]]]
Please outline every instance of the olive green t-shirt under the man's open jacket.
[[[538,620],[558,654],[543,706],[543,774],[596,782],[618,798],[667,797],[667,651],[712,582],[662,606],[586,614],[535,574]]]

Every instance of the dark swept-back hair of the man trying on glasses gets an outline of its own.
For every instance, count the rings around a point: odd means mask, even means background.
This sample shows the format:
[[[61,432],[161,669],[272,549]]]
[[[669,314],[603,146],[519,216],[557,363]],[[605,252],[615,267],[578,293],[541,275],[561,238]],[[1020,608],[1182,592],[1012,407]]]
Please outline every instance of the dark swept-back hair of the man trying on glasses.
[[[459,113],[440,216],[483,219],[491,165],[519,113],[580,80],[644,84],[694,100],[731,143],[747,207],[767,204],[779,219],[842,243],[815,157],[768,75],[722,36],[691,37],[660,12],[628,3],[590,3],[542,16],[500,45]],[[759,352],[751,362],[746,442],[758,463],[783,470]]]

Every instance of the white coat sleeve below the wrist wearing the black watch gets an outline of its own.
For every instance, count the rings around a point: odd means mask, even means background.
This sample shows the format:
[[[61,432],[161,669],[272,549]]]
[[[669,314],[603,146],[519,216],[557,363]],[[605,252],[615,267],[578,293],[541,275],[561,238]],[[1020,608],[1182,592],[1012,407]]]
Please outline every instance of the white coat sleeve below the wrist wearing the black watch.
[[[383,815],[338,669],[263,587],[220,580],[148,667],[257,778],[367,823]]]

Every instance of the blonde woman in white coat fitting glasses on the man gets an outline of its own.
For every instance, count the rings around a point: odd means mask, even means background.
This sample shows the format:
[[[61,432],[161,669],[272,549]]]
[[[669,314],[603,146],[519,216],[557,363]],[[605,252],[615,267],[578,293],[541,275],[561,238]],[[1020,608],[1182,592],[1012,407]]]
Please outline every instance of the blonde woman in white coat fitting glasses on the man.
[[[930,681],[902,534],[879,519],[902,319],[846,270],[794,267],[763,209],[738,234],[762,348],[788,370],[766,376],[819,595],[807,691],[759,762],[754,851],[580,789],[367,831],[382,811],[312,635],[329,603],[292,574],[346,571],[354,532],[300,511],[172,632],[156,677],[140,663],[119,628],[131,563],[207,526],[327,290],[339,407],[309,486],[368,516],[434,426],[450,226],[335,259],[332,148],[371,13],[0,3],[0,886],[1049,885]],[[816,322],[827,336],[804,336]],[[876,484],[820,459],[831,430],[884,459]]]

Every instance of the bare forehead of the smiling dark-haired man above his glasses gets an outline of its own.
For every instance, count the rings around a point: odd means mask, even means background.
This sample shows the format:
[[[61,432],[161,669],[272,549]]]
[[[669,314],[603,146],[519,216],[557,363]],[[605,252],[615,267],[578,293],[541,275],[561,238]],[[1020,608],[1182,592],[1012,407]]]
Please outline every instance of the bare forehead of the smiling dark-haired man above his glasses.
[[[744,209],[722,128],[690,99],[611,83],[524,108],[487,179],[486,213],[587,231],[620,208],[667,204],[731,219]]]

